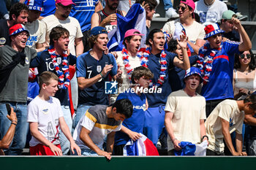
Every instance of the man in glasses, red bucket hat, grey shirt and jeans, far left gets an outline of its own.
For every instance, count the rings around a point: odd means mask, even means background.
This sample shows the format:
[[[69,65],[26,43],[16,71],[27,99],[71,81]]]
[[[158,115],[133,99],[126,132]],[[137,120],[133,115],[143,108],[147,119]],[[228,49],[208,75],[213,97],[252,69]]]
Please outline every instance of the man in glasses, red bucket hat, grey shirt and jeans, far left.
[[[37,56],[37,51],[26,47],[29,31],[22,24],[15,24],[9,32],[11,46],[0,47],[0,134],[6,134],[11,124],[5,106],[8,103],[16,112],[18,123],[12,144],[4,152],[5,155],[21,155],[29,128],[26,123],[29,63]]]

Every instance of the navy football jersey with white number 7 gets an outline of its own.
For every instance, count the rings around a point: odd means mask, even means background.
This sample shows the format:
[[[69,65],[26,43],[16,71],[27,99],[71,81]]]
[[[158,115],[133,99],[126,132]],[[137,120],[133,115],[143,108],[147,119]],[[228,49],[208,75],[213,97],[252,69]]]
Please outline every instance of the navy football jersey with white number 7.
[[[83,53],[78,57],[77,60],[77,77],[85,77],[90,79],[97,76],[102,72],[106,64],[112,64],[113,69],[111,69],[108,74],[111,76],[116,75],[117,66],[116,60],[112,54],[102,55],[102,58],[97,61],[94,57],[90,55],[89,52]],[[94,106],[96,104],[108,105],[108,94],[105,94],[105,82],[108,81],[108,74],[104,79],[99,80],[94,85],[83,90],[78,90],[78,104],[86,104],[88,106]]]

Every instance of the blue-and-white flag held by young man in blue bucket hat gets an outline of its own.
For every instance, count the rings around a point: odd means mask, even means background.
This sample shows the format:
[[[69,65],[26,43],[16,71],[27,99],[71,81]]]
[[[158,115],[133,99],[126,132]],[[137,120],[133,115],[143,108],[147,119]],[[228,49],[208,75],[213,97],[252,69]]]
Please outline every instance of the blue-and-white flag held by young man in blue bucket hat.
[[[195,155],[205,156],[207,141],[203,141],[200,144],[192,144],[191,142],[181,142],[178,144],[182,149],[180,151],[175,150],[175,155]]]

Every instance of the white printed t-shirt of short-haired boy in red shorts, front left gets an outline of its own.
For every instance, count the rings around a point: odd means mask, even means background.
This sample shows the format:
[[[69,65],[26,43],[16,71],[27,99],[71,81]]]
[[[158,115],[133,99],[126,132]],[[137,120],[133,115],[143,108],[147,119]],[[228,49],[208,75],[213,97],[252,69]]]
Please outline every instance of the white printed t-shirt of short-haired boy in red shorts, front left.
[[[59,117],[63,117],[63,112],[58,98],[50,97],[48,101],[44,101],[37,96],[28,105],[27,122],[37,122],[39,133],[53,144],[60,144]],[[37,144],[41,142],[32,136],[29,146]]]

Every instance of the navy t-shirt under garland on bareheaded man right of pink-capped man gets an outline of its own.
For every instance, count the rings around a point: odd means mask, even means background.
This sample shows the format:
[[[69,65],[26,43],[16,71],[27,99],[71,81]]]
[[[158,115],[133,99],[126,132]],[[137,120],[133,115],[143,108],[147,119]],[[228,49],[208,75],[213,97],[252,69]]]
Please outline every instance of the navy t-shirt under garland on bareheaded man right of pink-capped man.
[[[167,96],[172,92],[172,89],[170,87],[170,79],[169,79],[169,70],[174,66],[173,65],[173,59],[176,57],[176,54],[169,53],[165,51],[166,53],[166,61],[167,61],[167,71],[166,71],[166,77],[165,82],[160,86],[159,88],[162,88],[162,93],[146,93],[146,96],[148,98],[148,106],[149,107],[159,107],[160,105],[165,105],[167,101]],[[151,70],[151,72],[154,74],[154,78],[152,80],[153,85],[157,83],[157,80],[159,78],[160,73],[160,53],[157,55],[149,55],[148,56],[148,69]]]

